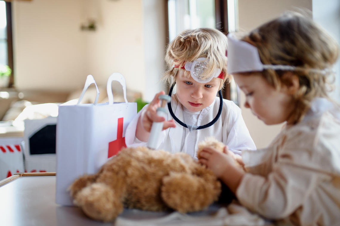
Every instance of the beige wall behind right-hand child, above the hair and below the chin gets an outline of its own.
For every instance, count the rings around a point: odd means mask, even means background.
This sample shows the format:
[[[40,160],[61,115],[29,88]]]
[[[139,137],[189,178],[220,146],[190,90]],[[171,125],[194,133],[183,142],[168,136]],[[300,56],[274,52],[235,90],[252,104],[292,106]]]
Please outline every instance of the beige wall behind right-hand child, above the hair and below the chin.
[[[239,30],[248,32],[262,23],[273,19],[286,10],[296,8],[312,9],[312,0],[238,0]],[[240,92],[243,119],[257,148],[269,145],[282,128],[280,125],[267,126],[257,119],[250,109],[244,108],[245,96]]]

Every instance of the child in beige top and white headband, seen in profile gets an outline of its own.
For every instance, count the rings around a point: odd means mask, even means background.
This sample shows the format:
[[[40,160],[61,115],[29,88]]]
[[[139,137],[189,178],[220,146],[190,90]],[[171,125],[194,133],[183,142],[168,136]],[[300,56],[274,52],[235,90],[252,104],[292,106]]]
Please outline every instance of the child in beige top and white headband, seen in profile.
[[[327,96],[338,54],[322,28],[293,12],[241,40],[228,36],[228,73],[245,107],[268,125],[286,122],[268,148],[242,152],[246,172],[227,148],[200,153],[250,210],[293,225],[339,225],[340,109]]]

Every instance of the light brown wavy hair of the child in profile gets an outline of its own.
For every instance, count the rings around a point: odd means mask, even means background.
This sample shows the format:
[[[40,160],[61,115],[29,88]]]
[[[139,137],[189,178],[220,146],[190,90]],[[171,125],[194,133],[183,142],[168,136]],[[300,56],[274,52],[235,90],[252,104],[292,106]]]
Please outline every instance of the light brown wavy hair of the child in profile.
[[[263,64],[291,65],[299,78],[300,88],[293,96],[296,103],[294,124],[300,122],[311,101],[328,98],[334,75],[329,70],[339,55],[339,46],[325,30],[306,15],[286,12],[282,16],[254,29],[243,41],[258,49]],[[313,69],[324,70],[315,71]],[[276,89],[285,82],[285,70],[265,69],[262,76]],[[329,77],[332,77],[331,80]]]

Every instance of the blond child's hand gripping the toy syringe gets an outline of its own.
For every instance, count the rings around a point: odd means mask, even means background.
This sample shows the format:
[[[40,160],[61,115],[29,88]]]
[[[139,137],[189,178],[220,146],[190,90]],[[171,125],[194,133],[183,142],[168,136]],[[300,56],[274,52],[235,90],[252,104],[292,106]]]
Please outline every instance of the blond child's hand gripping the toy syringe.
[[[157,108],[160,107],[160,100],[158,99],[159,95],[164,95],[164,91],[160,91],[158,94],[155,95],[149,106],[142,112],[141,124],[143,128],[150,132],[151,126],[153,122],[163,122],[163,129],[167,129],[169,127],[176,127],[174,120],[165,121],[164,117],[157,115]]]

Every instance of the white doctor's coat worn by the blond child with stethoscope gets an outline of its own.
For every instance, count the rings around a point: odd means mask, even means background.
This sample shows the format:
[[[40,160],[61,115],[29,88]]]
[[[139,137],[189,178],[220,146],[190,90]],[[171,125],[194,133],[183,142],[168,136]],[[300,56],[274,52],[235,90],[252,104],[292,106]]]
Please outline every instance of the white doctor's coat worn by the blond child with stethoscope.
[[[215,101],[208,107],[201,110],[198,115],[196,125],[205,125],[211,122],[217,115],[219,109],[220,99],[216,97]],[[175,116],[184,121],[185,113],[182,104],[177,103],[176,98],[172,95],[171,106]],[[144,106],[142,110],[147,107]],[[137,116],[131,121],[126,128],[125,143],[128,147],[146,146],[146,142],[141,142],[136,138],[136,127],[138,118],[141,114],[138,112]],[[186,117],[187,118],[187,117]],[[170,120],[171,115],[168,112],[166,120]],[[187,118],[188,119],[188,118]],[[183,136],[183,131],[185,136]],[[176,123],[175,128],[168,128],[163,130],[159,135],[159,141],[156,149],[163,149],[171,153],[185,152],[192,157],[196,157],[198,143],[204,141],[206,137],[215,137],[218,141],[223,142],[234,153],[241,153],[241,150],[255,150],[255,144],[250,137],[248,128],[246,127],[240,108],[234,102],[223,99],[223,109],[221,116],[217,122],[207,128],[193,130],[190,132],[188,128],[184,128]],[[182,145],[182,143],[184,145]]]

